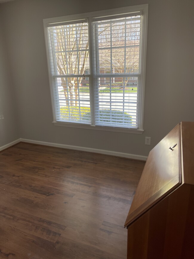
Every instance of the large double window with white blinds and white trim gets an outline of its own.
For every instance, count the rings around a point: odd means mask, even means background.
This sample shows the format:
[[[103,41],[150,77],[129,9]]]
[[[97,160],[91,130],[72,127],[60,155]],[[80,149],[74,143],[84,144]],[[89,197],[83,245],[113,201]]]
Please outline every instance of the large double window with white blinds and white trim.
[[[147,5],[44,27],[55,124],[142,131]]]

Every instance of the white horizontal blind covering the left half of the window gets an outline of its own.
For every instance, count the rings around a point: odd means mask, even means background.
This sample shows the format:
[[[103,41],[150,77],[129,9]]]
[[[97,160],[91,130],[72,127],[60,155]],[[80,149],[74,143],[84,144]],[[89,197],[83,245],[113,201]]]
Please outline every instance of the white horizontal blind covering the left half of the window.
[[[50,24],[47,36],[56,121],[91,124],[88,24]]]

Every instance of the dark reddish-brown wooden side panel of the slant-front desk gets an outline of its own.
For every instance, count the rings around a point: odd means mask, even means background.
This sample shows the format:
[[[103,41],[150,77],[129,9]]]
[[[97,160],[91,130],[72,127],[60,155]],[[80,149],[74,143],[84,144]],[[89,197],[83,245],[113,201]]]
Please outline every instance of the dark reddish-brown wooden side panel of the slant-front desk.
[[[194,259],[194,186],[184,184],[128,227],[127,259]]]

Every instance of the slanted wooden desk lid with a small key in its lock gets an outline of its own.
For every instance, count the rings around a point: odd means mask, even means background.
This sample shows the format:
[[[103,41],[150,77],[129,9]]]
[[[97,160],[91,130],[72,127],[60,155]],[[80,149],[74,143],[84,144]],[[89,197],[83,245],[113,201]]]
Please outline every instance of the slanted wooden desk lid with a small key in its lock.
[[[177,125],[150,151],[125,226],[181,183],[179,134]]]

